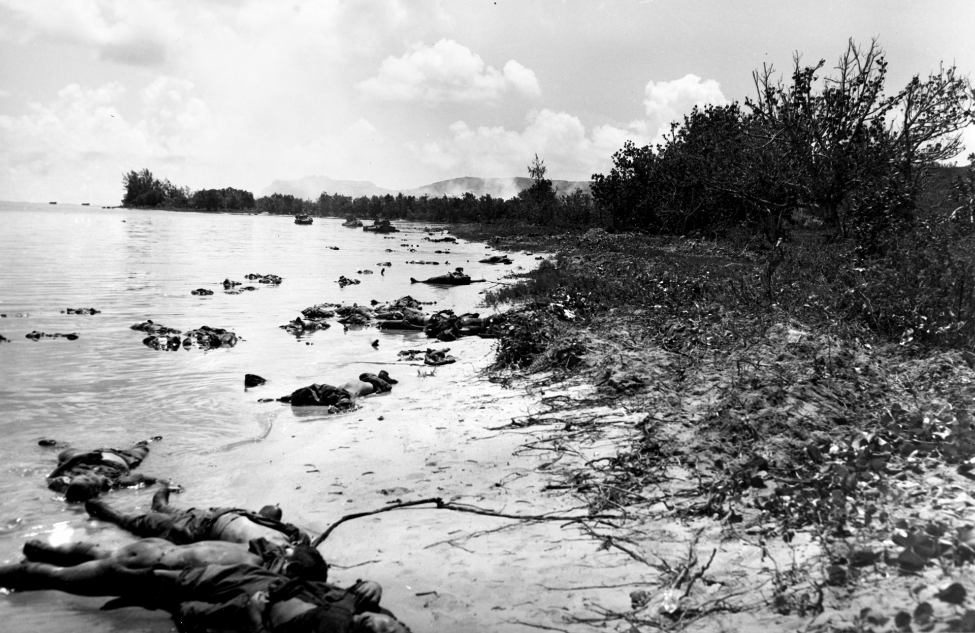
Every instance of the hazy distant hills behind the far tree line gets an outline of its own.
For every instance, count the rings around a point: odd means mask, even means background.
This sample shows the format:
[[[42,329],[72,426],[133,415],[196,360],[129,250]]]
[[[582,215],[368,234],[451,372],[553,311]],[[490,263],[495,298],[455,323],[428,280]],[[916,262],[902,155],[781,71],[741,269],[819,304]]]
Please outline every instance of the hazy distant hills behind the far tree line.
[[[297,180],[275,180],[260,192],[260,196],[273,193],[292,195],[303,200],[317,200],[322,193],[340,193],[343,196],[359,198],[361,196],[384,196],[403,193],[405,196],[423,196],[439,198],[441,196],[459,197],[467,192],[480,198],[490,194],[494,198],[512,198],[531,186],[531,178],[450,178],[432,184],[425,184],[415,189],[385,189],[376,186],[369,180],[334,180],[328,176],[306,176]],[[591,193],[589,180],[552,180],[556,193],[563,195],[571,193],[576,188],[585,193]]]

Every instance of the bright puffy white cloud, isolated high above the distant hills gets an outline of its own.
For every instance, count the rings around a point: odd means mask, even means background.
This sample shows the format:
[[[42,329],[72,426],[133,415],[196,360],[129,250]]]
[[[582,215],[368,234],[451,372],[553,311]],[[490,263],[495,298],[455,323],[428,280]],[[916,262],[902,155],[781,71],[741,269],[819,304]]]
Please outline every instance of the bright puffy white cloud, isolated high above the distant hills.
[[[515,59],[496,70],[448,39],[432,46],[414,44],[402,57],[384,59],[378,74],[356,87],[370,99],[428,103],[497,100],[508,92],[541,96],[535,73]]]

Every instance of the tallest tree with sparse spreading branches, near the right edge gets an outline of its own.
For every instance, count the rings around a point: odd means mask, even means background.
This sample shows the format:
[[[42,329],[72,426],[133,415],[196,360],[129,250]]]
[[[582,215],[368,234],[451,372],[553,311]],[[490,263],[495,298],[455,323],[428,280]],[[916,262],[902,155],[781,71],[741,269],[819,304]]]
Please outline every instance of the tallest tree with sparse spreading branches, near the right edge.
[[[886,97],[887,62],[876,39],[866,49],[850,40],[835,74],[821,82],[825,60],[803,66],[797,54],[793,61],[790,85],[771,66],[756,71],[757,97],[746,101],[791,168],[785,185],[841,236],[854,219],[909,220],[930,171],[961,151],[959,132],[975,122],[968,79],[942,66]]]

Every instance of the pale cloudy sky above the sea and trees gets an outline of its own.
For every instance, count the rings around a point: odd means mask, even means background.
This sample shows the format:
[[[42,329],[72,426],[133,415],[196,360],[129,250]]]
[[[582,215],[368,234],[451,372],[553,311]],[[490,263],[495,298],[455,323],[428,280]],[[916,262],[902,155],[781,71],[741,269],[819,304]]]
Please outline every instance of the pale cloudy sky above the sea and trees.
[[[796,53],[878,38],[887,92],[975,70],[975,2],[0,0],[0,200],[328,176],[589,179]],[[975,133],[965,133],[965,164]]]

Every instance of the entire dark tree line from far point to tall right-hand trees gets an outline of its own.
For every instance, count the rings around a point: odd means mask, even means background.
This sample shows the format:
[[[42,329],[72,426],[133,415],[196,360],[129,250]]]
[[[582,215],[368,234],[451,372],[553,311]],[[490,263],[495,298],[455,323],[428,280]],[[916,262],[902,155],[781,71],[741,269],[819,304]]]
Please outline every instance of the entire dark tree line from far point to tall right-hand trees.
[[[887,62],[876,40],[869,47],[850,40],[831,72],[825,65],[803,65],[797,54],[789,81],[762,66],[753,73],[755,95],[744,106],[694,107],[663,142],[641,147],[627,141],[613,154],[608,174],[593,175],[592,195],[556,195],[536,155],[527,168],[533,184],[506,200],[470,192],[254,200],[233,188],[191,193],[142,170],[124,177],[123,206],[612,226],[678,235],[745,226],[772,243],[804,222],[876,246],[892,230],[917,223],[931,175],[961,152],[959,133],[975,123],[972,86],[954,65],[942,66],[887,95]]]

